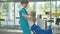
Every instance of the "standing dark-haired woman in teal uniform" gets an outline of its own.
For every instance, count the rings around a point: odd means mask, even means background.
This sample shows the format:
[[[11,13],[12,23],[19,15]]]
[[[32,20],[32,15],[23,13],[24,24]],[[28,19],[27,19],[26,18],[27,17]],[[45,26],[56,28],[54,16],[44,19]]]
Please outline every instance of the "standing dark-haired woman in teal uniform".
[[[28,25],[28,20],[26,19],[26,16],[23,16],[23,14],[28,15],[27,10],[26,10],[28,1],[23,0],[21,4],[23,5],[23,8],[21,8],[21,10],[19,11],[19,15],[20,15],[19,24],[21,26],[21,29],[23,30],[23,34],[31,34],[29,25]]]

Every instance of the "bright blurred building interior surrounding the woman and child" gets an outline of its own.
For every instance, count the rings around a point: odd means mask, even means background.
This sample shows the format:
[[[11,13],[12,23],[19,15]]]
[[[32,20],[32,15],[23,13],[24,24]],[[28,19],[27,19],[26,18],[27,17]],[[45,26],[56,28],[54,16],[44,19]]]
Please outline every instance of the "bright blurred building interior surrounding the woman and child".
[[[20,1],[17,0],[0,0],[0,34],[23,33],[19,24],[19,10],[21,6]],[[53,34],[60,34],[59,0],[31,0],[27,10],[36,11],[36,24],[42,29],[47,29],[49,25],[52,25]]]

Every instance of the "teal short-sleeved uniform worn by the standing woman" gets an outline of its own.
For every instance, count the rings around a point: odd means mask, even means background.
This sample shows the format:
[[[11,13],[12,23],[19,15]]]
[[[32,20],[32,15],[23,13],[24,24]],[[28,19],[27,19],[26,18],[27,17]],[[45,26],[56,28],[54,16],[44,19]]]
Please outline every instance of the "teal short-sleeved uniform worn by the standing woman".
[[[28,25],[28,20],[22,16],[23,13],[28,15],[25,8],[22,8],[19,11],[19,15],[20,15],[19,24],[21,26],[21,29],[23,30],[23,34],[31,34],[30,29],[29,29],[29,25]]]

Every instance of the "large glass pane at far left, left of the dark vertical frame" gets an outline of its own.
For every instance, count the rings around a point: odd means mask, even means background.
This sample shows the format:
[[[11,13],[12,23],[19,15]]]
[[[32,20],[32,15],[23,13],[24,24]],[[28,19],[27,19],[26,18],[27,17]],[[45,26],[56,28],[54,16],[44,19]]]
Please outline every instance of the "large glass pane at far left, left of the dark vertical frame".
[[[0,25],[14,25],[14,2],[0,2]]]

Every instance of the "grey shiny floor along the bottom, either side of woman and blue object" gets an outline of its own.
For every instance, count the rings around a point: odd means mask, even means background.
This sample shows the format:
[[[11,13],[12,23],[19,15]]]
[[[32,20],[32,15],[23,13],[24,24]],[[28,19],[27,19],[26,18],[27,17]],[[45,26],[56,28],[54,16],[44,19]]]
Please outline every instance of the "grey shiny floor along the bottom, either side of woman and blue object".
[[[19,29],[5,29],[0,28],[0,34],[22,34],[23,31]],[[53,29],[53,34],[60,34],[60,28]]]

